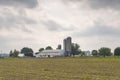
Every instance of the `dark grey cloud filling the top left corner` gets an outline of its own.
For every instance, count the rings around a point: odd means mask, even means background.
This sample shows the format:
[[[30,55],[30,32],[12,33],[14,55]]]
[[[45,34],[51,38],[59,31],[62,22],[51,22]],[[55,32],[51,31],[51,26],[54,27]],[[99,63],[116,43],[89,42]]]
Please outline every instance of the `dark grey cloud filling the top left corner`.
[[[0,0],[0,5],[34,8],[38,5],[38,1],[37,0]]]

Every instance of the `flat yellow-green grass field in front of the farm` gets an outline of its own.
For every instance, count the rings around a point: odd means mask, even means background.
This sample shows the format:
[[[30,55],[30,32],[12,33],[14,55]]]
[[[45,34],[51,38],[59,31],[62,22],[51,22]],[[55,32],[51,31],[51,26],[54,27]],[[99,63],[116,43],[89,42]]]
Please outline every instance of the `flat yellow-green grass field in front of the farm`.
[[[4,58],[0,80],[120,80],[120,58]]]

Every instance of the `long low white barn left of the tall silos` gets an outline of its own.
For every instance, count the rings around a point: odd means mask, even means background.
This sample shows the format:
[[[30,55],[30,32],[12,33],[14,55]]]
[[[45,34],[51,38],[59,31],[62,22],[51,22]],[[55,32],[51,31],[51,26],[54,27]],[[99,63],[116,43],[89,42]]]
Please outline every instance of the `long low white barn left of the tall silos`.
[[[48,57],[57,57],[57,56],[64,56],[63,50],[43,50],[38,54],[35,54],[35,57],[39,58],[48,58]]]

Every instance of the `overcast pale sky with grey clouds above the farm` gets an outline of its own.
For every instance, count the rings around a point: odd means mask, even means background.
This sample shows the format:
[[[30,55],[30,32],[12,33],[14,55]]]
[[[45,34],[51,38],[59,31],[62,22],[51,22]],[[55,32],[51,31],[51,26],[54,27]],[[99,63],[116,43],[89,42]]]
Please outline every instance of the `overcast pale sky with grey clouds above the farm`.
[[[120,46],[120,0],[0,0],[0,51],[58,44],[81,50]]]

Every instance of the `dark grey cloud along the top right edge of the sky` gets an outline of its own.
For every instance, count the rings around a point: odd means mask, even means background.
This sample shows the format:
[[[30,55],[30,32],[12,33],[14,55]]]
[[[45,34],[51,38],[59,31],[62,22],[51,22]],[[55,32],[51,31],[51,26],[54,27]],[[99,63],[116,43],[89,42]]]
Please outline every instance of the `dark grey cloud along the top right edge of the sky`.
[[[93,9],[120,9],[120,0],[63,0],[65,3],[83,3],[84,6],[89,5]]]

